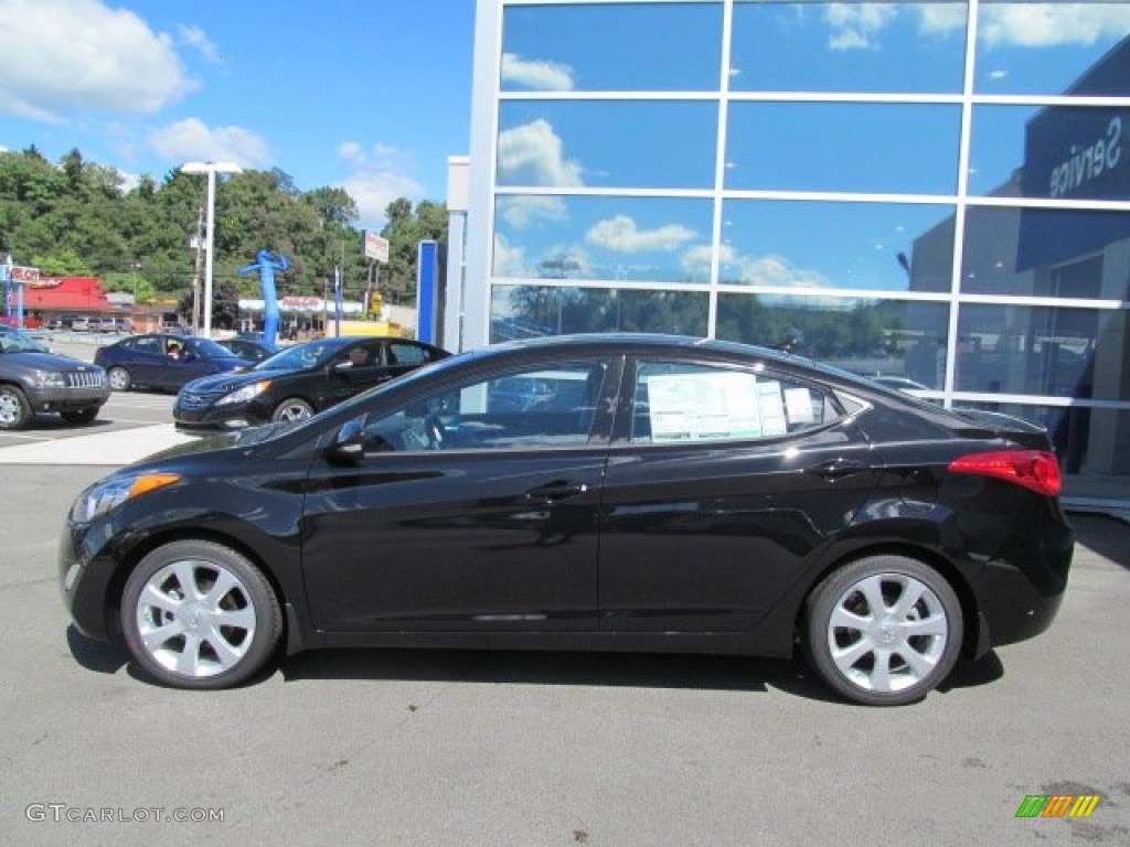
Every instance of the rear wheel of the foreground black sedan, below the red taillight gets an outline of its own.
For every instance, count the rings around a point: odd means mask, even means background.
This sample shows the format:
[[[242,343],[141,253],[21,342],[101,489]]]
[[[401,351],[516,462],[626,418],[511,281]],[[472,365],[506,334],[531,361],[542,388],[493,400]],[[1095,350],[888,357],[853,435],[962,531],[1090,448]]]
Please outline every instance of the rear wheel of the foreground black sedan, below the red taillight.
[[[878,611],[876,611],[878,610]],[[829,574],[808,597],[803,646],[820,679],[849,700],[901,706],[954,670],[962,605],[933,568],[871,556]]]

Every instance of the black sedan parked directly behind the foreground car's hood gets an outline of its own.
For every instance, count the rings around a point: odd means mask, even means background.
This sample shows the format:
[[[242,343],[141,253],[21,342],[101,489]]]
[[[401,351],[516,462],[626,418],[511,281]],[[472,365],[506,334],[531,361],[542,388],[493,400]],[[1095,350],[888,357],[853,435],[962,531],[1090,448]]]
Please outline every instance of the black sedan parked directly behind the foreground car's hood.
[[[176,395],[182,429],[303,420],[366,388],[446,358],[402,338],[346,335],[295,344],[238,374],[195,379]]]

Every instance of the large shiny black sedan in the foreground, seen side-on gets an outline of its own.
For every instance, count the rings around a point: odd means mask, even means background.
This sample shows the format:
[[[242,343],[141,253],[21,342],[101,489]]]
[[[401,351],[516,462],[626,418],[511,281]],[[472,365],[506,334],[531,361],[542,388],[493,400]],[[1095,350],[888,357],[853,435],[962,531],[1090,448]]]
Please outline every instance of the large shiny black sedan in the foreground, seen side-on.
[[[536,402],[514,402],[528,386]],[[183,688],[315,647],[791,657],[905,704],[1055,617],[1045,433],[760,348],[646,335],[452,357],[75,501],[78,629]]]

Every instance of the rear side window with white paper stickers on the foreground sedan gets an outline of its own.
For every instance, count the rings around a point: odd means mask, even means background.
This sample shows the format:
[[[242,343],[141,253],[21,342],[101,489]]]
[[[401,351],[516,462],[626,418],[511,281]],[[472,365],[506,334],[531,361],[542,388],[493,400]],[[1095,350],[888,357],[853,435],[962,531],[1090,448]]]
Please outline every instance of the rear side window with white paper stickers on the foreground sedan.
[[[670,444],[780,438],[835,418],[824,392],[776,374],[644,361],[636,369],[631,439]]]

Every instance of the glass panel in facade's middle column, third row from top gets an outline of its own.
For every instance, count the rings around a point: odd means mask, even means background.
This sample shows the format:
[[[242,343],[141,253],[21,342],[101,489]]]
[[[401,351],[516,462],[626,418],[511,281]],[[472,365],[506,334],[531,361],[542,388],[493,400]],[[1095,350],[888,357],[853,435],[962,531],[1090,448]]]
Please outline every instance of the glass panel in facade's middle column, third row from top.
[[[948,291],[953,257],[950,206],[731,200],[720,281]]]

